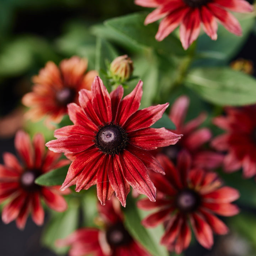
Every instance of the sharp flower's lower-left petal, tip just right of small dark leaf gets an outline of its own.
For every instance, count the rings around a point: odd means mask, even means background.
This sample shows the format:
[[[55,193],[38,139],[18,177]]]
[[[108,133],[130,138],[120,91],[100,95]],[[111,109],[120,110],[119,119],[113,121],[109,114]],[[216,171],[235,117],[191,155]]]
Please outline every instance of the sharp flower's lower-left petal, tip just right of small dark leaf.
[[[65,190],[66,188],[75,185],[76,179],[81,180],[79,176],[81,172],[85,169],[86,165],[88,165],[90,162],[98,161],[102,155],[102,153],[98,152],[97,148],[90,148],[81,155],[79,155],[69,166],[68,173],[60,190]]]

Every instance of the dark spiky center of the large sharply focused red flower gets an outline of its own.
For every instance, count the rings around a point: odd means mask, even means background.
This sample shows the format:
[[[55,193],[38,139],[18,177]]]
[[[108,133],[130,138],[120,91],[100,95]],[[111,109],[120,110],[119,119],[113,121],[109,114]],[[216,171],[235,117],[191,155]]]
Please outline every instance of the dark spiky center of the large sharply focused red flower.
[[[126,148],[128,137],[126,131],[114,123],[106,123],[98,127],[94,143],[104,154],[118,155]]]

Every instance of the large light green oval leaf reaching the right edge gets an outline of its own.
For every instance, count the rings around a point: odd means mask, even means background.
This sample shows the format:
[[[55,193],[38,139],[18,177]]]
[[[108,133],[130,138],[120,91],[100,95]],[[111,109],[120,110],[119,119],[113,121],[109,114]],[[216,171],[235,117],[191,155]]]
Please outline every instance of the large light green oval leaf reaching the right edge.
[[[256,102],[256,80],[230,68],[190,70],[185,85],[206,101],[217,105],[241,106]]]

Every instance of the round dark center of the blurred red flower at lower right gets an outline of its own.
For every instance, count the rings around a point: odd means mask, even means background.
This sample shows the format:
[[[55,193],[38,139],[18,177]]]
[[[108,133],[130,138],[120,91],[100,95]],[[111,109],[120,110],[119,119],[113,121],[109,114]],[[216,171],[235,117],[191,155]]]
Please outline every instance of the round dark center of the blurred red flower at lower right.
[[[193,212],[201,203],[199,194],[191,189],[180,191],[176,197],[176,206],[181,212]]]

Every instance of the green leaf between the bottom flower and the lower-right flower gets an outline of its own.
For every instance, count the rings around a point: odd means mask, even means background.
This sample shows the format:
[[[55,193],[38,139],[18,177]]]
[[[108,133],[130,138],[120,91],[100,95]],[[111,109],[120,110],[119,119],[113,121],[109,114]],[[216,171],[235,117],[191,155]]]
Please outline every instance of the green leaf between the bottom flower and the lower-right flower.
[[[152,255],[168,256],[166,248],[160,245],[160,238],[164,233],[163,228],[159,225],[153,229],[145,229],[141,220],[145,212],[139,210],[134,199],[127,197],[127,206],[124,208],[125,225],[127,230],[138,240]]]

